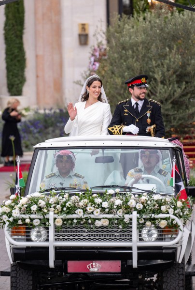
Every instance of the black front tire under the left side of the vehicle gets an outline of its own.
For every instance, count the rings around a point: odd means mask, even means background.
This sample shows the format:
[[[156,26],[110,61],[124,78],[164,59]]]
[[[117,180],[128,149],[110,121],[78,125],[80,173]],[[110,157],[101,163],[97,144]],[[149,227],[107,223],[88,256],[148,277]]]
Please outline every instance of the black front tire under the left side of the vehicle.
[[[17,264],[12,264],[10,290],[36,290],[33,281],[33,272],[23,270]]]

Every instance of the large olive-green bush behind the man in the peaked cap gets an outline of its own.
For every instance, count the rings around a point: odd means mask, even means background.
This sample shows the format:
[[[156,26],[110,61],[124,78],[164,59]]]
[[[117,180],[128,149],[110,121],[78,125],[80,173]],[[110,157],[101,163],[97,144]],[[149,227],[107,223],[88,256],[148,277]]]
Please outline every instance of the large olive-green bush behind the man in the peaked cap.
[[[124,81],[146,74],[147,96],[162,105],[167,137],[171,128],[183,133],[195,120],[195,13],[163,8],[113,23],[105,35],[108,57],[97,70],[112,112],[130,97]]]

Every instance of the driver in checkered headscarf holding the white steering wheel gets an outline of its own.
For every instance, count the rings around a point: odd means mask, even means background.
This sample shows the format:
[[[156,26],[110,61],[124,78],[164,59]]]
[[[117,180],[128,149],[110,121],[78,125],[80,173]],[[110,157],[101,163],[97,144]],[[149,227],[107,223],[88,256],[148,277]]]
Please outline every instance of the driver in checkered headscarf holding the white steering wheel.
[[[155,183],[158,192],[164,192],[161,183],[152,177],[142,178],[142,175],[152,175],[160,179],[166,186],[167,193],[172,193],[170,183],[170,173],[162,169],[162,155],[159,150],[141,149],[139,150],[139,167],[131,169],[127,176],[125,185],[133,186],[135,183]],[[132,181],[134,179],[134,181]],[[131,183],[132,181],[132,183]]]

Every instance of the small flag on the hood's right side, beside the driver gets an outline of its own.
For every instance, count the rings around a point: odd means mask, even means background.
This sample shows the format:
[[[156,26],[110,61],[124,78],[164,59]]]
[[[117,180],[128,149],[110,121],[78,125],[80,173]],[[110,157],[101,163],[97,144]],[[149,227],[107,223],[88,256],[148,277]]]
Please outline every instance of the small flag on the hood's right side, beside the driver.
[[[170,186],[173,186],[173,168],[171,172]],[[175,166],[175,192],[180,196],[180,199],[188,198],[177,166]]]

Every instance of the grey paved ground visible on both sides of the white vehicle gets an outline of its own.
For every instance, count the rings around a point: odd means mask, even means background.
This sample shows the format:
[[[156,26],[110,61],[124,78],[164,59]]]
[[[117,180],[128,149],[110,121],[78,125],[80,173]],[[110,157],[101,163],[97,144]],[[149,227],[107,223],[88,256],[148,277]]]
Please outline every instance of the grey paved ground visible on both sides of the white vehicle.
[[[26,153],[21,162],[27,162],[31,160],[32,153]],[[12,172],[0,172],[0,204],[3,200],[9,198],[9,189],[7,182],[12,182],[14,173]],[[194,211],[195,220],[195,211]],[[193,263],[195,263],[195,244],[193,247]],[[10,261],[7,255],[5,246],[5,236],[3,229],[0,229],[0,271],[6,271],[10,268]],[[195,277],[193,278],[193,286],[195,289]],[[0,290],[10,290],[10,277],[0,276]]]

